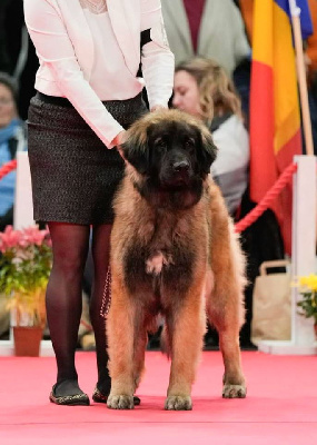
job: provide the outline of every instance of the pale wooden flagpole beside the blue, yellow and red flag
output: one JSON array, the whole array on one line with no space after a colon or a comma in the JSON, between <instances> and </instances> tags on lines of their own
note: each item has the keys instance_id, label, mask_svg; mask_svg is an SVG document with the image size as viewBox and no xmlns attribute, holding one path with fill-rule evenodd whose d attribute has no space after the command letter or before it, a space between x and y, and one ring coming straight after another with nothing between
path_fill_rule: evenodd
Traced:
<instances>
[{"instance_id":1,"label":"pale wooden flagpole beside the blue, yellow and red flag","mask_svg":"<svg viewBox=\"0 0 317 445\"><path fill-rule=\"evenodd\" d=\"M306 154L314 156L311 120L310 120L310 112L309 112L309 106L308 106L306 69L305 69L303 39L301 39L301 30L300 30L300 8L297 7L296 0L288 0L288 2L289 2L289 10L290 10L290 17L291 17L293 31L294 31L294 41L295 41L295 50L296 50L296 66L297 66L299 98L300 98L303 130L304 130Z\"/></svg>"}]
</instances>

